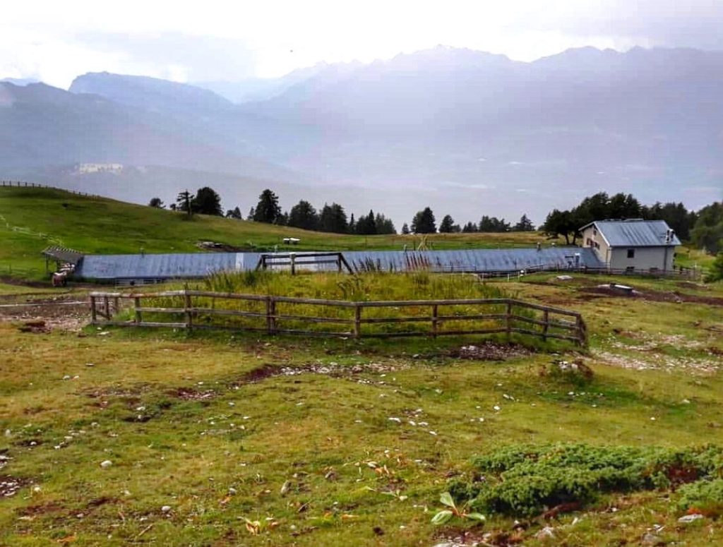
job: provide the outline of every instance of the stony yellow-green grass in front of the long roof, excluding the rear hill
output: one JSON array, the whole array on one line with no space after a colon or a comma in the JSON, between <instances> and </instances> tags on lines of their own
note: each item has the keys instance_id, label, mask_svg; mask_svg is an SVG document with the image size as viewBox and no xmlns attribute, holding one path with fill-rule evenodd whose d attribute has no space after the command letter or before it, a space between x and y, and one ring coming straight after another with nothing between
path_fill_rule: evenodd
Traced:
<instances>
[{"instance_id":1,"label":"stony yellow-green grass in front of the long roof, excluding the rear hill","mask_svg":"<svg viewBox=\"0 0 723 547\"><path fill-rule=\"evenodd\" d=\"M405 276L360 283L392 297L477 290L433 277L426 288ZM595 292L611 280L487 283L581 311L583 352L523 338L478 355L461 350L485 348L476 337L33 333L0 322L0 475L18 482L0 499L0 544L723 545L715 504L678 522L693 494L674 483L601 492L547 518L432 525L440 494L462 504L465 485L480 484L479 457L506 447L723 445L723 285L625 277L641 296ZM338 296L340 281L234 283ZM591 374L554 374L561 361Z\"/></svg>"}]
</instances>

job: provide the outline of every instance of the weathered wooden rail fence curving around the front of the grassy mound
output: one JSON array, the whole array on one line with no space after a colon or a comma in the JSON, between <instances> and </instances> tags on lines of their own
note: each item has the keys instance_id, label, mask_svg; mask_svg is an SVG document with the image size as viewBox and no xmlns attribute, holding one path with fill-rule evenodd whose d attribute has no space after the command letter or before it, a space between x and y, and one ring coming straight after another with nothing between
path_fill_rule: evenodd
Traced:
<instances>
[{"instance_id":1,"label":"weathered wooden rail fence curving around the front of the grassy mound","mask_svg":"<svg viewBox=\"0 0 723 547\"><path fill-rule=\"evenodd\" d=\"M122 301L132 302L131 306ZM150 301L145 305L144 301ZM159 306L173 303L174 306ZM225 307L217 307L221 303ZM250 303L239 309L239 303ZM234 309L234 305L235 308ZM253 309L255 306L256 309ZM281 308L286 308L283 310ZM301 310L299 310L301 308ZM422 314L388 314L405 310ZM458 314L455 310L471 311ZM303 314L303 311L312 313ZM119 313L130 313L127 321ZM253 294L214 293L202 290L172 290L158 293L90 293L90 314L95 325L122 327L171 327L180 329L231 329L335 337L406 337L447 335L530 335L542 340L555 338L586 345L587 327L581 314L513 298L405 301L339 301ZM150 316L151 320L148 320ZM171 320L161 320L169 317ZM214 323L216 317L243 319L244 325ZM175 320L174 320L175 319ZM347 330L311 330L341 324ZM395 330L399 324L429 325L424 330ZM447 324L461 328L448 329ZM291 328L299 325L299 328ZM371 326L374 326L372 330ZM381 327L381 330L380 330ZM468 328L464 328L468 327ZM385 331L386 329L386 331Z\"/></svg>"}]
</instances>

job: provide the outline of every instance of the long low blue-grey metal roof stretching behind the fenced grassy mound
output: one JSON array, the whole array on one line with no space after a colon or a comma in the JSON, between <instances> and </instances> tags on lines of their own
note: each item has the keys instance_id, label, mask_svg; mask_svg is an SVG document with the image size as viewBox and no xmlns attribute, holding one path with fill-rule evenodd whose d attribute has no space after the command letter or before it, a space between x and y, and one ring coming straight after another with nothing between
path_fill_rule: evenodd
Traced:
<instances>
[{"instance_id":1,"label":"long low blue-grey metal roof stretching behind the fenced grassy mound","mask_svg":"<svg viewBox=\"0 0 723 547\"><path fill-rule=\"evenodd\" d=\"M303 257L304 252L297 253ZM590 267L604 264L592 249L547 247L545 249L469 249L460 251L346 251L354 270L433 272L515 272L550 268ZM187 254L89 254L83 257L76 276L93 280L155 280L204 277L220 270L253 270L258 253ZM308 267L307 267L308 268ZM315 270L335 270L334 264L318 264Z\"/></svg>"}]
</instances>

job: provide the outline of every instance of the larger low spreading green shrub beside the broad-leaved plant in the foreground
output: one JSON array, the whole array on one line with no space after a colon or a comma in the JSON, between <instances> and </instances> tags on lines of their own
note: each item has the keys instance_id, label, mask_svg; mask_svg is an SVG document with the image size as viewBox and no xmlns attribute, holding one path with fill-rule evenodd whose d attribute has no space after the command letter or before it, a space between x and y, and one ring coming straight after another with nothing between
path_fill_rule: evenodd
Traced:
<instances>
[{"instance_id":1,"label":"larger low spreading green shrub beside the broad-leaved plant in the foreground","mask_svg":"<svg viewBox=\"0 0 723 547\"><path fill-rule=\"evenodd\" d=\"M485 514L531 516L560 504L583 507L601 494L671 488L723 469L723 451L606 447L589 444L515 445L475 460L484 477L456 481L450 493Z\"/></svg>"}]
</instances>

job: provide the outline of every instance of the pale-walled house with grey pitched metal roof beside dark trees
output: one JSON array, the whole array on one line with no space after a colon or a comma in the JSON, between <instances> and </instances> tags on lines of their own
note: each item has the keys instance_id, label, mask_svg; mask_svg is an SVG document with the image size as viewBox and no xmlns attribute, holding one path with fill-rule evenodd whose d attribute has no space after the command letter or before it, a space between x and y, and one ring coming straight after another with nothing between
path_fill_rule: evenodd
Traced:
<instances>
[{"instance_id":1,"label":"pale-walled house with grey pitched metal roof beside dark trees","mask_svg":"<svg viewBox=\"0 0 723 547\"><path fill-rule=\"evenodd\" d=\"M580 228L590 247L611 270L671 271L680 240L664 220L595 220Z\"/></svg>"}]
</instances>

